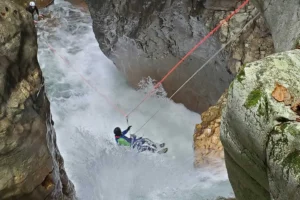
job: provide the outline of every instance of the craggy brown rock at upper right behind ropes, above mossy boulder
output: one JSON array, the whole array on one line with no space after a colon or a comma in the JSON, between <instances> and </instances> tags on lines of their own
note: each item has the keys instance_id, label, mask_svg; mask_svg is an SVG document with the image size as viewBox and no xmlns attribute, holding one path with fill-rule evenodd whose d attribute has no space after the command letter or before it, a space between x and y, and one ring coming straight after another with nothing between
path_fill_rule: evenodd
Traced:
<instances>
[{"instance_id":1,"label":"craggy brown rock at upper right behind ropes, above mossy boulder","mask_svg":"<svg viewBox=\"0 0 300 200\"><path fill-rule=\"evenodd\" d=\"M199 13L205 19L206 27L212 29L242 2L244 1L207 0L204 3L205 9L200 10ZM236 74L244 64L274 53L271 32L263 16L256 17L257 14L259 14L259 10L250 2L234 15L229 23L224 24L217 33L218 39L223 45L233 37L237 38L226 47L226 51L230 55L228 69L233 74ZM245 27L254 17L256 17L255 20ZM244 29L242 34L238 34L242 29Z\"/></svg>"}]
</instances>

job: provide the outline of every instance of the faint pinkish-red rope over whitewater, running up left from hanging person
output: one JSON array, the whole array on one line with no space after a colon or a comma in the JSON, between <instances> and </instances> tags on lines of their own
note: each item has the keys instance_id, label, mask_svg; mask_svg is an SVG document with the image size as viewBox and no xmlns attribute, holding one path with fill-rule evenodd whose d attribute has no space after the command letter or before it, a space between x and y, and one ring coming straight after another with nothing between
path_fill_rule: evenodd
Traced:
<instances>
[{"instance_id":1,"label":"faint pinkish-red rope over whitewater, running up left from hanging person","mask_svg":"<svg viewBox=\"0 0 300 200\"><path fill-rule=\"evenodd\" d=\"M116 104L114 104L106 95L102 94L101 92L99 92L99 90L94 87L92 84L90 84L90 82L84 78L84 76L82 74L80 74L74 67L72 67L70 61L68 59L66 59L65 57L59 55L56 50L50 45L50 44L47 44L49 49L56 55L58 55L63 61L65 61L75 72L77 72L79 74L79 76L85 81L86 84L88 84L91 88L93 88L100 96L102 96L108 104L110 104L112 107L114 107L119 113L121 113L123 116L126 116L126 113L121 109L119 108Z\"/></svg>"}]
</instances>

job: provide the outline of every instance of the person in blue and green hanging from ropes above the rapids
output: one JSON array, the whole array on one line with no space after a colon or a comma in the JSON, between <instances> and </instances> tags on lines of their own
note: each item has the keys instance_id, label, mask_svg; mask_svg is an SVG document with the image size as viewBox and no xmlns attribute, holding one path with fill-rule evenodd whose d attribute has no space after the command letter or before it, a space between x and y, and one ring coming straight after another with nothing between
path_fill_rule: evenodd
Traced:
<instances>
[{"instance_id":1,"label":"person in blue and green hanging from ropes above the rapids","mask_svg":"<svg viewBox=\"0 0 300 200\"><path fill-rule=\"evenodd\" d=\"M143 151L150 151L152 153L166 153L168 151L168 148L161 149L157 151L158 147L163 148L165 146L165 143L162 144L156 144L149 140L148 138L136 138L136 135L131 134L130 138L126 136L128 131L130 130L131 126L129 126L125 131L121 131L119 127L116 127L114 129L114 134L115 134L115 140L118 145L120 146L129 146L132 147L133 149L137 149L139 152Z\"/></svg>"}]
</instances>

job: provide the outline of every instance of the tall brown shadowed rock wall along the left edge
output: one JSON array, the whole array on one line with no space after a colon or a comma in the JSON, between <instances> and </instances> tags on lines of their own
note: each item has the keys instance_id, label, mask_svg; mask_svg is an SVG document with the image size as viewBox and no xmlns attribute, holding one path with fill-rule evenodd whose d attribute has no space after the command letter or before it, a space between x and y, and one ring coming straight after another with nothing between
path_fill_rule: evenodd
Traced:
<instances>
[{"instance_id":1,"label":"tall brown shadowed rock wall along the left edge","mask_svg":"<svg viewBox=\"0 0 300 200\"><path fill-rule=\"evenodd\" d=\"M9 0L1 0L0 9L0 198L73 200L31 15Z\"/></svg>"}]
</instances>

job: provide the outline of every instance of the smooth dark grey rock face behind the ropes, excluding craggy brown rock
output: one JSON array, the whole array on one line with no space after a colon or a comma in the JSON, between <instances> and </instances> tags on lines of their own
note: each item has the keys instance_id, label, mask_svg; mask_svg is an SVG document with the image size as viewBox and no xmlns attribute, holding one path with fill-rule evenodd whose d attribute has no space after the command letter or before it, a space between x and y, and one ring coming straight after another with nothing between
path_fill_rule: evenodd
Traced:
<instances>
[{"instance_id":1,"label":"smooth dark grey rock face behind the ropes, excluding craggy brown rock","mask_svg":"<svg viewBox=\"0 0 300 200\"><path fill-rule=\"evenodd\" d=\"M143 77L160 80L208 32L192 0L86 0L95 36L102 51L136 87ZM163 83L170 96L219 48L213 36L203 43ZM213 59L175 97L189 109L202 112L214 104L232 76L227 55Z\"/></svg>"}]
</instances>

